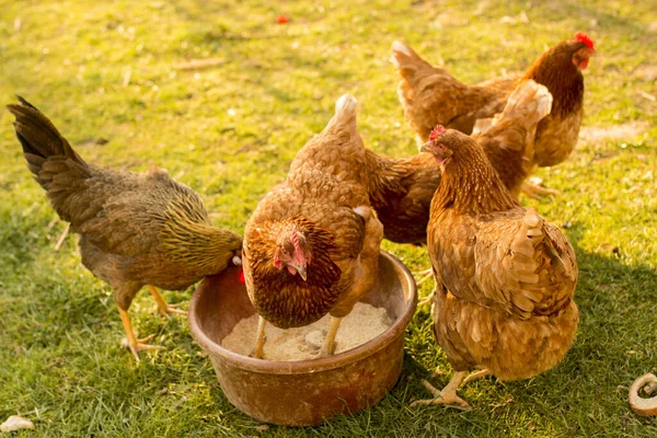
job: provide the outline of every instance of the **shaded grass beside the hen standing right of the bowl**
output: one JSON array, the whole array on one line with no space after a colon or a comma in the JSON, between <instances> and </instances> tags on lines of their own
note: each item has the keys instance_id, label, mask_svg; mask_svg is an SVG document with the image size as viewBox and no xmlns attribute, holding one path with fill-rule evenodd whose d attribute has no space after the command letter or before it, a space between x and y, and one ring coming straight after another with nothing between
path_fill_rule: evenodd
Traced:
<instances>
[{"instance_id":1,"label":"shaded grass beside the hen standing right of the bowl","mask_svg":"<svg viewBox=\"0 0 657 438\"><path fill-rule=\"evenodd\" d=\"M635 378L657 369L657 275L649 266L625 265L618 249L610 249L609 255L584 251L579 246L583 232L578 223L566 230L579 266L575 301L580 323L573 347L563 362L533 379L507 383L486 379L462 387L460 394L474 407L466 414L469 420L477 423L496 414L529 422L538 414L555 433L569 436L638 433L656 425L654 419L635 416L626 397ZM416 315L418 325L426 319L430 315L424 310ZM442 388L453 372L446 360L436 365L445 367L447 374L429 379L433 369L407 356L392 396L405 399L405 404L429 397L419 380L429 379ZM459 414L445 407L423 412L459 420ZM497 427L491 430L499 431Z\"/></svg>"}]
</instances>

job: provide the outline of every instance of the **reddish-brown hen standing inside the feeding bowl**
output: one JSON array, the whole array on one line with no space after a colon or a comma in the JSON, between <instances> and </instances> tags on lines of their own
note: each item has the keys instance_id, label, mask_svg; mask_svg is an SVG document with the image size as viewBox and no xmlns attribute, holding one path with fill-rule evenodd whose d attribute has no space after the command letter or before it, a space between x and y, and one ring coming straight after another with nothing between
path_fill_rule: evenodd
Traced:
<instances>
[{"instance_id":1,"label":"reddish-brown hen standing inside the feeding bowl","mask_svg":"<svg viewBox=\"0 0 657 438\"><path fill-rule=\"evenodd\" d=\"M265 320L288 328L326 313L331 326L320 355L333 354L339 321L373 287L383 229L368 198L356 107L349 95L337 101L328 125L246 223L246 290L261 315L256 357L263 357Z\"/></svg>"}]
</instances>

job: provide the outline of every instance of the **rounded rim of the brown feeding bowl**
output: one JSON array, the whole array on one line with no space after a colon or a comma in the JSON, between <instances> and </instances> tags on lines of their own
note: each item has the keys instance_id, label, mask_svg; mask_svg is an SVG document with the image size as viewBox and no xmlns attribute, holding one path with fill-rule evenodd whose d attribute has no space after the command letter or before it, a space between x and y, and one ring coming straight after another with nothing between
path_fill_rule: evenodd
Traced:
<instances>
[{"instance_id":1,"label":"rounded rim of the brown feeding bowl","mask_svg":"<svg viewBox=\"0 0 657 438\"><path fill-rule=\"evenodd\" d=\"M388 253L387 251L380 250L380 255L384 258L388 258L392 263L393 268L397 273L400 281L406 283L410 292L410 299L405 303L402 314L385 332L356 348L320 359L296 361L256 359L223 348L220 344L217 344L210 339L203 332L199 320L196 316L196 308L198 306L198 301L200 300L203 290L201 285L207 280L207 278L196 287L196 290L192 296L192 300L189 301L188 321L192 335L200 345L200 347L210 355L219 356L222 361L230 366L253 372L269 374L301 374L326 371L354 364L364 357L371 356L374 353L385 348L400 335L404 335L406 326L415 314L415 309L417 307L417 287L415 285L415 278L413 278L413 275L408 268L397 257Z\"/></svg>"}]
</instances>

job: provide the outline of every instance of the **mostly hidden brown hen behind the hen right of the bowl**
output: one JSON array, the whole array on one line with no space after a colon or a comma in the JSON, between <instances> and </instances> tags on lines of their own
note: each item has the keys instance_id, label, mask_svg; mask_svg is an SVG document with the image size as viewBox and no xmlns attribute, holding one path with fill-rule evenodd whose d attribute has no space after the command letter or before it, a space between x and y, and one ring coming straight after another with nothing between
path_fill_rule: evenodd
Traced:
<instances>
[{"instance_id":1,"label":"mostly hidden brown hen behind the hen right of the bowl","mask_svg":"<svg viewBox=\"0 0 657 438\"><path fill-rule=\"evenodd\" d=\"M502 113L472 135L503 183L518 197L533 170L534 134L550 113L552 96L532 80L522 81L508 96ZM429 207L440 183L440 165L430 153L391 159L366 150L370 203L385 239L396 243L426 243Z\"/></svg>"}]
</instances>

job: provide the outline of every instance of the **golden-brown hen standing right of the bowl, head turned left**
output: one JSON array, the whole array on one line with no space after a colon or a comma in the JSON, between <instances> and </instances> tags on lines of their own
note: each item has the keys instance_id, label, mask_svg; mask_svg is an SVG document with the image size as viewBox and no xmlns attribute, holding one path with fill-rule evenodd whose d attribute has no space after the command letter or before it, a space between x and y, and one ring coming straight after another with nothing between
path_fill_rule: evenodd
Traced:
<instances>
[{"instance_id":1,"label":"golden-brown hen standing right of the bowl, head turned left","mask_svg":"<svg viewBox=\"0 0 657 438\"><path fill-rule=\"evenodd\" d=\"M442 168L431 201L428 252L436 279L434 333L457 371L436 399L493 374L528 379L558 364L578 324L577 263L567 239L504 186L476 141L438 127L423 149Z\"/></svg>"}]
</instances>

